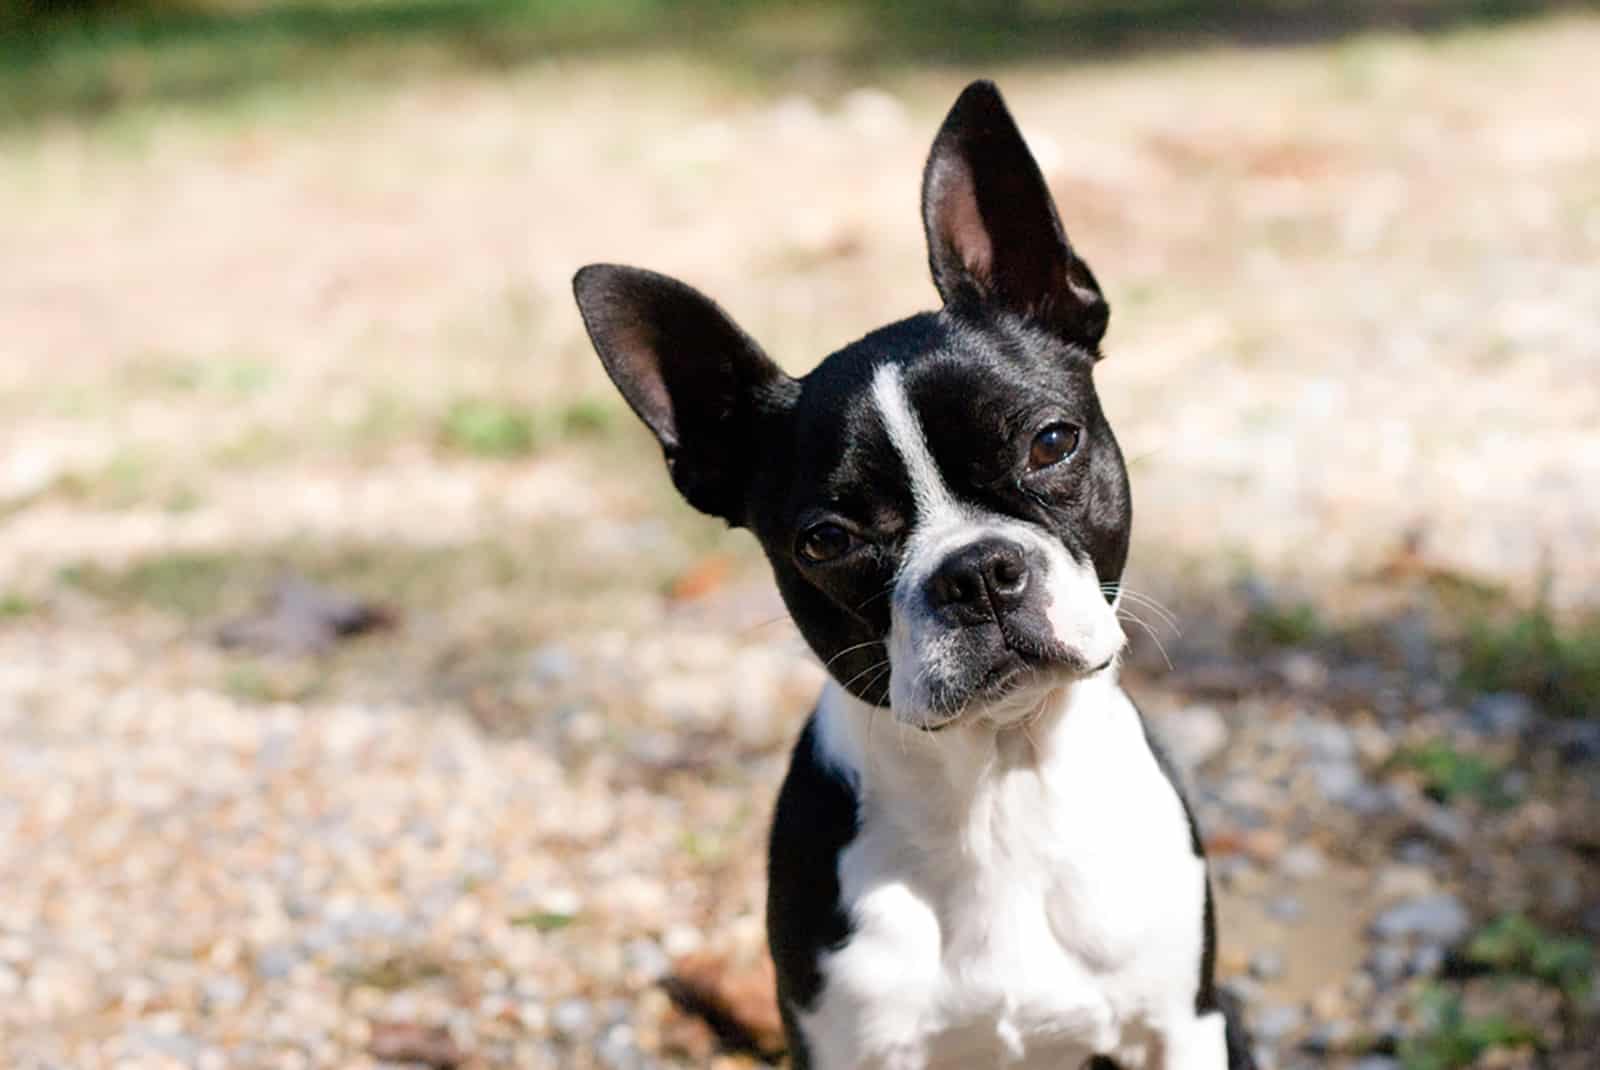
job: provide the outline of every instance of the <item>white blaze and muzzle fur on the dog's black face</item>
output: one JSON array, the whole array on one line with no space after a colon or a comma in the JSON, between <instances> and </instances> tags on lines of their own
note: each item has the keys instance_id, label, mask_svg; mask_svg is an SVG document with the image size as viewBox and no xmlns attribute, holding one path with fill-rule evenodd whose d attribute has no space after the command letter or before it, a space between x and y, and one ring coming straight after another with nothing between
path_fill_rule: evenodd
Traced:
<instances>
[{"instance_id":1,"label":"white blaze and muzzle fur on the dog's black face","mask_svg":"<svg viewBox=\"0 0 1600 1070\"><path fill-rule=\"evenodd\" d=\"M950 553L990 536L1035 547L1043 555L1045 569L1038 582L1048 590L1046 619L1058 641L1077 651L1090 665L1115 657L1126 637L1115 609L1101 593L1094 569L1075 561L1059 539L1035 525L968 509L950 494L896 365L877 369L872 398L910 477L912 499L917 504L917 526L894 577L890 614L890 707L894 717L926 728L950 715L931 709L931 694L941 680L957 670L954 637L933 619L923 592L934 569ZM1006 710L992 710L990 715L1014 717L1027 709L1027 704L1008 704Z\"/></svg>"}]
</instances>

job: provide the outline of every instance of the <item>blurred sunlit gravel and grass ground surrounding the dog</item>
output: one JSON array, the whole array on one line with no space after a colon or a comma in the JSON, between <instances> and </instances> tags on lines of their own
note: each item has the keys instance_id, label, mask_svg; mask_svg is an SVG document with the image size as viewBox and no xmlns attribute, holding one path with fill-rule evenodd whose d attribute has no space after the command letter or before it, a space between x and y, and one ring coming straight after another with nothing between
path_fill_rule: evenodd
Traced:
<instances>
[{"instance_id":1,"label":"blurred sunlit gravel and grass ground surrounding the dog","mask_svg":"<svg viewBox=\"0 0 1600 1070\"><path fill-rule=\"evenodd\" d=\"M0 1062L750 1067L821 680L570 277L803 371L994 77L1267 1067L1600 1051L1600 13L0 6Z\"/></svg>"}]
</instances>

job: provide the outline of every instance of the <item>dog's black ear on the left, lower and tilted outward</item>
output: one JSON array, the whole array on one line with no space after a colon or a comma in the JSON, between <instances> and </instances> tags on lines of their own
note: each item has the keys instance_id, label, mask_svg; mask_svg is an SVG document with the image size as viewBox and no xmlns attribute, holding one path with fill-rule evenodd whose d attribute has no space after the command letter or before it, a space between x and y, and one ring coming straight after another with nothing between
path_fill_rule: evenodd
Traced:
<instances>
[{"instance_id":1,"label":"dog's black ear on the left, lower and tilted outward","mask_svg":"<svg viewBox=\"0 0 1600 1070\"><path fill-rule=\"evenodd\" d=\"M792 405L795 381L717 304L675 278L616 264L573 277L600 363L666 454L678 493L744 523L752 432Z\"/></svg>"}]
</instances>

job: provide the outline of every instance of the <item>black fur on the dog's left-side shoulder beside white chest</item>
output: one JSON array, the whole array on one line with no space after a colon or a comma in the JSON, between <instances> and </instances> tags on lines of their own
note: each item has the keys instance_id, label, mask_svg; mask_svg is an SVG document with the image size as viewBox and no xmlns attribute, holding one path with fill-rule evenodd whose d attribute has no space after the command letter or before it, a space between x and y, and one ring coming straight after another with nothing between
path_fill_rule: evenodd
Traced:
<instances>
[{"instance_id":1,"label":"black fur on the dog's left-side shoulder beside white chest","mask_svg":"<svg viewBox=\"0 0 1600 1070\"><path fill-rule=\"evenodd\" d=\"M818 713L806 721L778 793L768 851L766 929L786 1019L822 987L819 955L850 939L838 886L838 854L859 830L858 787L822 742ZM789 1030L798 1038L798 1030ZM797 1052L797 1064L803 1056Z\"/></svg>"}]
</instances>

